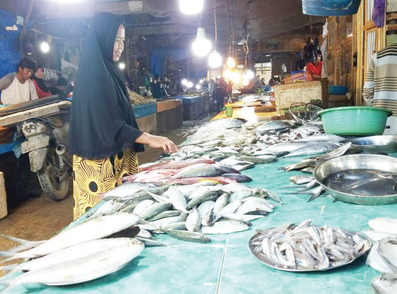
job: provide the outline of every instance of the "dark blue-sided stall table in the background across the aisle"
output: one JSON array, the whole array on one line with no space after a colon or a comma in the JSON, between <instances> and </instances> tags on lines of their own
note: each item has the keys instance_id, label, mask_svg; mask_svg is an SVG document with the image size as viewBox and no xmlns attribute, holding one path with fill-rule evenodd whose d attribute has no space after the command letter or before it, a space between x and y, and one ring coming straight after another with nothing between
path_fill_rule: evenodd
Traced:
<instances>
[{"instance_id":1,"label":"dark blue-sided stall table in the background across the aisle","mask_svg":"<svg viewBox=\"0 0 397 294\"><path fill-rule=\"evenodd\" d=\"M194 120L209 112L210 98L208 95L181 95L173 97L183 103L183 120Z\"/></svg>"}]
</instances>

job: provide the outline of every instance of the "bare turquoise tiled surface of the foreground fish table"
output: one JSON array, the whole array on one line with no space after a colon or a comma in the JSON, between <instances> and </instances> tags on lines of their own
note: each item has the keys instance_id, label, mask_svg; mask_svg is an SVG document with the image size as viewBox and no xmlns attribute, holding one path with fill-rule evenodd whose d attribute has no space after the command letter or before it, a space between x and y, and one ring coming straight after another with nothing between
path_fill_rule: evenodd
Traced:
<instances>
[{"instance_id":1,"label":"bare turquoise tiled surface of the foreground fish table","mask_svg":"<svg viewBox=\"0 0 397 294\"><path fill-rule=\"evenodd\" d=\"M268 216L253 220L250 230L228 235L209 235L211 242L206 244L159 235L158 240L171 246L145 248L131 263L109 276L62 287L35 285L28 290L23 286L15 286L8 289L7 293L373 293L371 280L380 274L365 265L365 256L350 265L330 271L292 273L270 268L250 252L248 242L256 229L288 223L299 224L303 220L312 219L319 226L327 224L361 231L369 228L369 219L378 216L395 217L397 204L364 206L340 201L334 203L332 197L325 195L308 203L310 194L282 194L292 191L281 188L293 185L288 178L302 173L286 172L280 167L301 159L302 157L285 158L274 163L258 164L242 172L254 179L248 183L249 186L278 193L284 202L284 205L278 205ZM80 221L81 219L77 220Z\"/></svg>"}]
</instances>

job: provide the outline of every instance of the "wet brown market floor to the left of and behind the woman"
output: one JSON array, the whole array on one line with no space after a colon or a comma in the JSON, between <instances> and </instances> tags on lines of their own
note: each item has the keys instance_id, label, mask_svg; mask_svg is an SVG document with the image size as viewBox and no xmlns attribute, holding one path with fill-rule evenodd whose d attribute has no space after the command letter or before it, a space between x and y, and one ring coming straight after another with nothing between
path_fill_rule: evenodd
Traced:
<instances>
[{"instance_id":1,"label":"wet brown market floor to the left of and behind the woman","mask_svg":"<svg viewBox=\"0 0 397 294\"><path fill-rule=\"evenodd\" d=\"M215 114L207 115L201 120L184 121L181 128L161 135L167 136L176 144L180 144L185 140L184 134L197 124L210 120ZM138 155L139 163L156 161L161 153L161 150L146 148L144 153ZM0 220L0 235L32 241L51 238L72 221L72 205L71 195L61 202L55 202L45 194L38 198L24 200L16 208L9 211L5 218ZM0 237L0 251L7 251L16 245L15 242ZM0 271L0 277L3 275L4 273Z\"/></svg>"}]
</instances>

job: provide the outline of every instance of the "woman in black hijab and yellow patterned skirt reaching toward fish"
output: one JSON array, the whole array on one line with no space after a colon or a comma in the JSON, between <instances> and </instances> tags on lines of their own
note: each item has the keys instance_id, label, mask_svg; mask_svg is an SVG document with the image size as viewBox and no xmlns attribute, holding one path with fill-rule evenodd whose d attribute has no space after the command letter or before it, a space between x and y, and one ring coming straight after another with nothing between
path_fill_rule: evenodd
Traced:
<instances>
[{"instance_id":1,"label":"woman in black hijab and yellow patterned skirt reaching toward fish","mask_svg":"<svg viewBox=\"0 0 397 294\"><path fill-rule=\"evenodd\" d=\"M116 66L125 28L113 14L93 17L79 64L69 128L73 154L73 217L101 201L123 176L136 173L143 144L177 151L166 137L139 131L123 77Z\"/></svg>"}]
</instances>

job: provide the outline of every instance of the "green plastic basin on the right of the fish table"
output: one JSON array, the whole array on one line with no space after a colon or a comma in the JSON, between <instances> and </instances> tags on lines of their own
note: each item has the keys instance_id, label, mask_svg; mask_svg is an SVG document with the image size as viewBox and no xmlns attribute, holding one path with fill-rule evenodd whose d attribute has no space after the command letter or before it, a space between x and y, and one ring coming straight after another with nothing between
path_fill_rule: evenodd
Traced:
<instances>
[{"instance_id":1,"label":"green plastic basin on the right of the fish table","mask_svg":"<svg viewBox=\"0 0 397 294\"><path fill-rule=\"evenodd\" d=\"M336 135L382 135L392 112L385 108L350 106L318 112L324 131Z\"/></svg>"}]
</instances>

